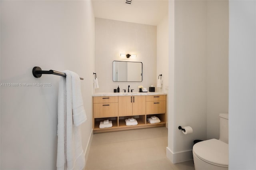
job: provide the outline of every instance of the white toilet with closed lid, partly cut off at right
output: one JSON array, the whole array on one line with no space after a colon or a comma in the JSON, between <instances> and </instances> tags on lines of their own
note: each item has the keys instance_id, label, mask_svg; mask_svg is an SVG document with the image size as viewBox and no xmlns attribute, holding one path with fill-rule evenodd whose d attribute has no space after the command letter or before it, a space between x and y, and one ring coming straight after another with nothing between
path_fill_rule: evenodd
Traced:
<instances>
[{"instance_id":1,"label":"white toilet with closed lid, partly cut off at right","mask_svg":"<svg viewBox=\"0 0 256 170\"><path fill-rule=\"evenodd\" d=\"M228 113L220 113L220 139L193 146L195 170L228 170Z\"/></svg>"}]
</instances>

